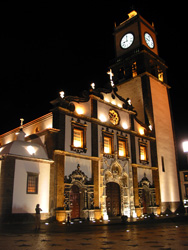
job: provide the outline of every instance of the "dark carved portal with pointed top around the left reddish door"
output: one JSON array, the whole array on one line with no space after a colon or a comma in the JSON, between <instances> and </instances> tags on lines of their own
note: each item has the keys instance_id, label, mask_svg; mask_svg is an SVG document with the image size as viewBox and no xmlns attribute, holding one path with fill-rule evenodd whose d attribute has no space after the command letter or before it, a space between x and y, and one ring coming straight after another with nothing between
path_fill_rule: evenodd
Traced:
<instances>
[{"instance_id":1,"label":"dark carved portal with pointed top around the left reddish door","mask_svg":"<svg viewBox=\"0 0 188 250\"><path fill-rule=\"evenodd\" d=\"M92 180L80 170L80 165L65 177L65 209L71 218L94 219L94 186Z\"/></svg>"}]
</instances>

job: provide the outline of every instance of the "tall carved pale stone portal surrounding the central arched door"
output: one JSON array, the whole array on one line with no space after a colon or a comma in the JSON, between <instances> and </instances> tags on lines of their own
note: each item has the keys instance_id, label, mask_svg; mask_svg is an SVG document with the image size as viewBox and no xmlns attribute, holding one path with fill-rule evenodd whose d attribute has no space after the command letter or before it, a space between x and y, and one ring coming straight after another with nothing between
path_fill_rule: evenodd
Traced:
<instances>
[{"instance_id":1,"label":"tall carved pale stone portal surrounding the central arched door","mask_svg":"<svg viewBox=\"0 0 188 250\"><path fill-rule=\"evenodd\" d=\"M132 166L129 159L103 157L101 176L103 179L101 209L103 219L126 215L135 217Z\"/></svg>"}]
</instances>

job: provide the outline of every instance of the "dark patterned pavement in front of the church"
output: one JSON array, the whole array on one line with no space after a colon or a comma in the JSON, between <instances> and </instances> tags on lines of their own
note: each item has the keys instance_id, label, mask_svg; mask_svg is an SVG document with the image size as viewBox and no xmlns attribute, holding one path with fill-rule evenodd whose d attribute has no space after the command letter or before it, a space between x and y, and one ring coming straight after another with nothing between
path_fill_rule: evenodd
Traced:
<instances>
[{"instance_id":1,"label":"dark patterned pavement in front of the church","mask_svg":"<svg viewBox=\"0 0 188 250\"><path fill-rule=\"evenodd\" d=\"M17 228L16 228L17 227ZM188 249L188 225L34 225L5 226L0 234L3 250L58 249Z\"/></svg>"}]
</instances>

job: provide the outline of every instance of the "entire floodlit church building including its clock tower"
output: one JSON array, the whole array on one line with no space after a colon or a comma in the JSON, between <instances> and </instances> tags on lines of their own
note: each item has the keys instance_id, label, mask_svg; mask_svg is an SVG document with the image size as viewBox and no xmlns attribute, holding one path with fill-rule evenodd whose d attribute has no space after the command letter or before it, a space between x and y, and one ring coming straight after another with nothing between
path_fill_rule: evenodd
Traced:
<instances>
[{"instance_id":1,"label":"entire floodlit church building including its clock tower","mask_svg":"<svg viewBox=\"0 0 188 250\"><path fill-rule=\"evenodd\" d=\"M43 218L58 221L178 209L169 86L154 27L133 11L114 37L108 89L62 91L50 113L0 136L2 217L34 213L38 203Z\"/></svg>"}]
</instances>

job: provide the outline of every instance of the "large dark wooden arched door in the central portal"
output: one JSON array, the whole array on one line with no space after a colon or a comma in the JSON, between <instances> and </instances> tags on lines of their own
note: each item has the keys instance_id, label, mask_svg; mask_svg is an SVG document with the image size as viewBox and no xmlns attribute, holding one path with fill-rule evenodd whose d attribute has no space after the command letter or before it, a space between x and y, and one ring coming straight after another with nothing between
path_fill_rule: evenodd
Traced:
<instances>
[{"instance_id":1,"label":"large dark wooden arched door in the central portal","mask_svg":"<svg viewBox=\"0 0 188 250\"><path fill-rule=\"evenodd\" d=\"M115 182L106 184L106 208L109 217L121 214L120 186Z\"/></svg>"}]
</instances>

